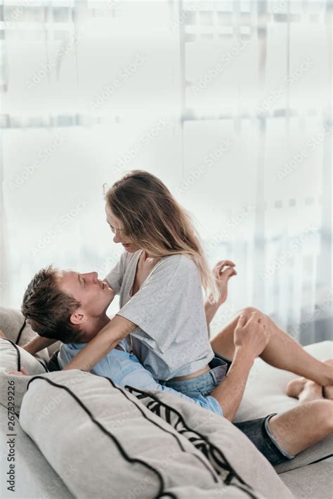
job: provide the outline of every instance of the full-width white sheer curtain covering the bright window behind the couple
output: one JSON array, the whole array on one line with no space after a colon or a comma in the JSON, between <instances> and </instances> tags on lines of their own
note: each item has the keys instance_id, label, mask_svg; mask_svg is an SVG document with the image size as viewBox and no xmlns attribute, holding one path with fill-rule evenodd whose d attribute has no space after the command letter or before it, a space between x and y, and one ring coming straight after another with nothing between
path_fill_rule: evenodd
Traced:
<instances>
[{"instance_id":1,"label":"full-width white sheer curtain covering the bright window behind the couple","mask_svg":"<svg viewBox=\"0 0 333 499\"><path fill-rule=\"evenodd\" d=\"M332 1L0 5L1 304L50 263L105 275L103 183L143 168L211 265L237 264L212 332L254 305L303 343L327 337Z\"/></svg>"}]
</instances>

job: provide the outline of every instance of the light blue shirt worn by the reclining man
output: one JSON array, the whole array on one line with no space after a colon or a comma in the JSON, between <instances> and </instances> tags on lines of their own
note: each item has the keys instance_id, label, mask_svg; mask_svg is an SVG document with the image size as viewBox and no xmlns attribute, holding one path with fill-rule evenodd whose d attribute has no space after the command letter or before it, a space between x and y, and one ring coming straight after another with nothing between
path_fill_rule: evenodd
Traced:
<instances>
[{"instance_id":1,"label":"light blue shirt worn by the reclining man","mask_svg":"<svg viewBox=\"0 0 333 499\"><path fill-rule=\"evenodd\" d=\"M58 354L60 368L65 368L84 346L86 346L86 343L62 344ZM110 378L110 380L118 384L121 388L129 385L141 390L166 391L166 393L185 398L192 403L196 403L197 406L211 410L213 413L223 415L221 406L213 396L198 395L195 398L190 398L187 395L181 394L180 391L164 387L164 385L154 380L151 372L143 367L135 355L129 354L126 351L111 350L101 361L94 365L91 372L98 376Z\"/></svg>"}]
</instances>

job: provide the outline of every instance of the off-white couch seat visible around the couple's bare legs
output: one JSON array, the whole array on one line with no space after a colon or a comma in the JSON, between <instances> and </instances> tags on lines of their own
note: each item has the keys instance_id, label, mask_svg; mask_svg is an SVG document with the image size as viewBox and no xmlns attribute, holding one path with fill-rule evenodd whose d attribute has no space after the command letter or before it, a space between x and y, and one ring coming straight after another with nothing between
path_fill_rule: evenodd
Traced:
<instances>
[{"instance_id":1,"label":"off-white couch seat visible around the couple's bare legs","mask_svg":"<svg viewBox=\"0 0 333 499\"><path fill-rule=\"evenodd\" d=\"M315 343L306 346L305 349L321 361L333 358L333 342ZM291 398L285 394L288 382L295 377L299 376L292 372L273 368L261 361L260 358L256 359L234 422L254 420L257 417L264 417L271 413L282 413L296 407L298 404L296 398ZM276 466L275 469L280 473L305 466L332 454L332 450L333 436L329 436L324 441L316 443L297 455L295 459Z\"/></svg>"}]
</instances>

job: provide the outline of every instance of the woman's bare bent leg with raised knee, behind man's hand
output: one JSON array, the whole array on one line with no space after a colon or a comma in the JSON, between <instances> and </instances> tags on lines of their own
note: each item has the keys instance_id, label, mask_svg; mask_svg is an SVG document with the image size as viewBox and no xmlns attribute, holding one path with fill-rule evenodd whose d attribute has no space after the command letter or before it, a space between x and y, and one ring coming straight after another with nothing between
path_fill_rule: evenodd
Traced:
<instances>
[{"instance_id":1,"label":"woman's bare bent leg with raised knee, behind man's hand","mask_svg":"<svg viewBox=\"0 0 333 499\"><path fill-rule=\"evenodd\" d=\"M248 307L240 313L245 313L249 316L253 312L258 312L258 310ZM233 359L235 354L233 333L240 313L211 341L214 351L226 358L230 358L230 360ZM323 387L333 384L333 368L331 365L318 361L309 355L299 343L278 328L273 323L273 320L264 314L263 316L268 321L268 327L271 332L270 341L261 354L263 361L273 365L275 368L291 371L308 380L313 380Z\"/></svg>"}]
</instances>

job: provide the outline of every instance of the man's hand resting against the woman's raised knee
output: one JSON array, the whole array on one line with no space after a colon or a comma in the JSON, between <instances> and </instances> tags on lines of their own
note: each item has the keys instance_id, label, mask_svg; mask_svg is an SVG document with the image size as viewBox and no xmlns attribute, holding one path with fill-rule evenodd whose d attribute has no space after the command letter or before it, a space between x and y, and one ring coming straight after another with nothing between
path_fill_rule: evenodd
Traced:
<instances>
[{"instance_id":1,"label":"man's hand resting against the woman's raised knee","mask_svg":"<svg viewBox=\"0 0 333 499\"><path fill-rule=\"evenodd\" d=\"M269 340L268 320L263 313L252 312L250 316L240 316L234 333L236 349L242 348L256 358L266 348Z\"/></svg>"}]
</instances>

